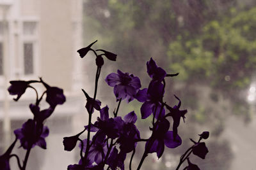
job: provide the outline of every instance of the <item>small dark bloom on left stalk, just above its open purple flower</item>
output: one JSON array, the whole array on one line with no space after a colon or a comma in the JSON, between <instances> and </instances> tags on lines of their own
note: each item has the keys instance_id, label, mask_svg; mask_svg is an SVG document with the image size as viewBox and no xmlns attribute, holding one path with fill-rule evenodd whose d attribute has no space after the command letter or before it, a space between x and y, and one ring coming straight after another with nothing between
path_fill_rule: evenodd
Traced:
<instances>
[{"instance_id":1,"label":"small dark bloom on left stalk, just above its open purple flower","mask_svg":"<svg viewBox=\"0 0 256 170\"><path fill-rule=\"evenodd\" d=\"M29 104L29 108L34 115L35 120L41 123L44 122L46 118L50 117L54 111L51 106L45 110L40 111L40 107L36 106L35 104Z\"/></svg>"}]
</instances>

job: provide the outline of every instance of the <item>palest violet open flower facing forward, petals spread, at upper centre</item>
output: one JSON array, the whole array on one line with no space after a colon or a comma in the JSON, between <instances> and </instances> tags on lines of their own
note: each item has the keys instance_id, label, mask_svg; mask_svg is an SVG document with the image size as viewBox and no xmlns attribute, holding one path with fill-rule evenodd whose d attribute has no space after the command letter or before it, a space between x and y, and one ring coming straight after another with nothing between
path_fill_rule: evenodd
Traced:
<instances>
[{"instance_id":1,"label":"palest violet open flower facing forward, petals spread, at upper centre","mask_svg":"<svg viewBox=\"0 0 256 170\"><path fill-rule=\"evenodd\" d=\"M114 87L116 99L127 98L127 103L134 99L136 92L141 87L140 79L133 74L122 73L119 69L116 73L109 74L105 81L109 86Z\"/></svg>"}]
</instances>

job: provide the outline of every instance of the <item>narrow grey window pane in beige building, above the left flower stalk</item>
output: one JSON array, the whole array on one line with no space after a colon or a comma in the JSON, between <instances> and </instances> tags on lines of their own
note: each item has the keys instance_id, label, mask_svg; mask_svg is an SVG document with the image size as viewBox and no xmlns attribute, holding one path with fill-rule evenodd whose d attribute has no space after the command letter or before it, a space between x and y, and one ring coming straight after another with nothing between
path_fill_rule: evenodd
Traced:
<instances>
[{"instance_id":1,"label":"narrow grey window pane in beige building, above the left flower stalk","mask_svg":"<svg viewBox=\"0 0 256 170\"><path fill-rule=\"evenodd\" d=\"M33 43L24 43L24 74L33 74Z\"/></svg>"}]
</instances>

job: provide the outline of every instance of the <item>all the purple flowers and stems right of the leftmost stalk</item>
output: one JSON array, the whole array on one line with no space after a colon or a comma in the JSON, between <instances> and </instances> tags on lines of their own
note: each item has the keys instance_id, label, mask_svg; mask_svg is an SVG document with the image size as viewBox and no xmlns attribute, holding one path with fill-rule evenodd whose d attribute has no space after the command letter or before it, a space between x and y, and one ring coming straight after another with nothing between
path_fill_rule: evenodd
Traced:
<instances>
[{"instance_id":1,"label":"all the purple flowers and stems right of the leftmost stalk","mask_svg":"<svg viewBox=\"0 0 256 170\"><path fill-rule=\"evenodd\" d=\"M180 118L185 120L185 115L188 111L180 110L181 101L179 97L175 95L178 104L173 107L163 99L164 89L166 87L165 79L177 76L179 73L166 73L166 71L157 66L156 62L151 58L147 62L147 73L152 80L148 84L148 88L144 89L141 89L140 78L133 74L123 73L119 69L117 73L108 74L105 81L110 87L113 87L116 102L118 103L116 109L113 111L113 117L111 117L109 115L108 106L100 108L101 102L99 99L96 99L96 96L100 70L104 65L103 56L109 60L115 61L116 54L102 49L93 50L92 46L96 42L97 41L94 41L90 45L77 50L81 58L88 52L93 52L97 71L95 74L95 90L93 97L90 97L88 93L82 89L87 101L85 108L88 111L88 124L85 125L83 131L78 134L63 138L64 150L70 152L76 147L77 142L79 142L80 148L80 160L77 164L70 164L67 169L124 169L124 161L127 158L127 154L131 154L131 159L129 160L129 169L131 170L132 159L136 153L136 146L139 142L142 142L145 143L145 149L137 167L137 169L140 169L149 153L156 153L157 157L160 158L164 153L164 146L177 148L182 144L182 139L178 134L178 127ZM143 103L140 108L141 113L138 115L134 111L131 111L124 117L120 117L118 111L124 99L126 99L127 103L130 103L134 99ZM97 117L97 121L92 123L92 116L97 114L94 113L94 110L98 110L100 115ZM150 117L150 115L152 115L152 117ZM149 127L151 136L148 139L140 138L141 132L135 125L138 116L142 119L152 118L152 127ZM171 117L172 121L168 120L168 117ZM170 129L170 127L172 127L172 129ZM80 136L84 132L87 132L87 137L86 139L81 139ZM92 132L94 134L91 137ZM188 166L184 169L199 169L198 166L190 162L189 156L193 153L193 155L205 159L208 149L205 143L201 141L209 137L209 132L202 132L199 136L197 142L191 139L193 146L182 154L176 170L180 168L185 160L187 160Z\"/></svg>"}]
</instances>

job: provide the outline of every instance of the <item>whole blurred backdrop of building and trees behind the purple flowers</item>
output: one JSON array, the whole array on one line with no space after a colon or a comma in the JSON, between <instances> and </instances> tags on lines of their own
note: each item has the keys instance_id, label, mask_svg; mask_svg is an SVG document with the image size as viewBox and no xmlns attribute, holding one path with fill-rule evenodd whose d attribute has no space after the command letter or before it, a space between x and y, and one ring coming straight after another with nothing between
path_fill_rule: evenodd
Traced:
<instances>
[{"instance_id":1,"label":"whole blurred backdrop of building and trees behind the purple flowers","mask_svg":"<svg viewBox=\"0 0 256 170\"><path fill-rule=\"evenodd\" d=\"M67 102L57 106L45 123L50 134L47 150L36 146L29 170L67 169L79 160L79 150L64 152L62 140L83 130L88 122L81 88L93 94L95 60L76 52L95 40L93 48L118 55L105 61L97 99L102 107L117 106L104 78L120 69L139 76L148 86L146 62L152 57L167 73L164 101L188 109L180 122L179 148L165 148L161 159L147 157L144 169L175 169L179 157L203 131L209 148L205 160L191 156L200 169L256 167L256 1L253 0L0 0L0 155L13 141L13 130L33 115L27 90L19 102L8 94L10 80L38 80L63 88ZM90 56L91 55L91 56ZM39 87L40 88L40 87ZM132 110L141 138L148 137L150 120L141 120L141 103L123 102L120 115ZM47 104L42 104L42 108ZM93 114L94 120L98 113ZM138 145L134 169L143 153ZM19 145L17 145L19 146ZM24 150L13 152L24 157ZM130 154L127 157L130 157ZM12 168L17 169L12 159Z\"/></svg>"}]
</instances>

